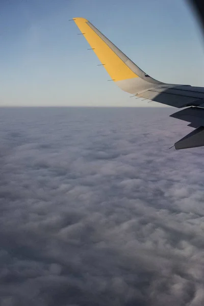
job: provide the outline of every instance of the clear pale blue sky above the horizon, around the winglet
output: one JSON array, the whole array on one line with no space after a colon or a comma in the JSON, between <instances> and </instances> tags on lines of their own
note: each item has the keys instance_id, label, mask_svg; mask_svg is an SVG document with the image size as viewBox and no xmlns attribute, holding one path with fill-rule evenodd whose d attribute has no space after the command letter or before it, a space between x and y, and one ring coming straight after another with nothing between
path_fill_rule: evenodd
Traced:
<instances>
[{"instance_id":1,"label":"clear pale blue sky above the horizon, around the winglet","mask_svg":"<svg viewBox=\"0 0 204 306\"><path fill-rule=\"evenodd\" d=\"M184 0L8 0L0 10L0 106L158 106L107 82L72 17L87 18L152 77L204 84L201 31Z\"/></svg>"}]
</instances>

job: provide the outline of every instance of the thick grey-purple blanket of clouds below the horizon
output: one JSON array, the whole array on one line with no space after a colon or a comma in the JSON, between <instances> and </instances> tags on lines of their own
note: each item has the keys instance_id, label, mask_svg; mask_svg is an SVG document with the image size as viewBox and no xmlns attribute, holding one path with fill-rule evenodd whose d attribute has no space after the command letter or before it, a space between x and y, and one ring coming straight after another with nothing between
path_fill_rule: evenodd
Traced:
<instances>
[{"instance_id":1,"label":"thick grey-purple blanket of clouds below the horizon","mask_svg":"<svg viewBox=\"0 0 204 306\"><path fill-rule=\"evenodd\" d=\"M0 304L204 303L203 148L173 109L2 109Z\"/></svg>"}]
</instances>

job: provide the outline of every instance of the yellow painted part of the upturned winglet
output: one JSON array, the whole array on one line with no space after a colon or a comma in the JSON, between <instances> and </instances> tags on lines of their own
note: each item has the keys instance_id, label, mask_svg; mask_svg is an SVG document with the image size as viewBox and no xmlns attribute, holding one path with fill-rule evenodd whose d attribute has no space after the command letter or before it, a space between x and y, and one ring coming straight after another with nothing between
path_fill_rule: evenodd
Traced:
<instances>
[{"instance_id":1,"label":"yellow painted part of the upturned winglet","mask_svg":"<svg viewBox=\"0 0 204 306\"><path fill-rule=\"evenodd\" d=\"M115 82L137 78L125 62L116 54L117 48L113 43L101 34L87 19L73 18L80 31L90 44L101 64Z\"/></svg>"}]
</instances>

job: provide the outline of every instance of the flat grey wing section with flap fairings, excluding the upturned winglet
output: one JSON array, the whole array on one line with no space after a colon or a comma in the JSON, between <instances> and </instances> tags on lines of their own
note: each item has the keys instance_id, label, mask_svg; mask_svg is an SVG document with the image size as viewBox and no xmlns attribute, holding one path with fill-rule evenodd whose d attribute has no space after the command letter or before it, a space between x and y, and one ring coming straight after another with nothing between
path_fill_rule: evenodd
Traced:
<instances>
[{"instance_id":1,"label":"flat grey wing section with flap fairings, excluding the upturned winglet","mask_svg":"<svg viewBox=\"0 0 204 306\"><path fill-rule=\"evenodd\" d=\"M176 108L185 108L170 117L188 122L196 130L177 141L176 149L204 146L204 88L182 85L166 85L137 93L136 96L166 104Z\"/></svg>"}]
</instances>

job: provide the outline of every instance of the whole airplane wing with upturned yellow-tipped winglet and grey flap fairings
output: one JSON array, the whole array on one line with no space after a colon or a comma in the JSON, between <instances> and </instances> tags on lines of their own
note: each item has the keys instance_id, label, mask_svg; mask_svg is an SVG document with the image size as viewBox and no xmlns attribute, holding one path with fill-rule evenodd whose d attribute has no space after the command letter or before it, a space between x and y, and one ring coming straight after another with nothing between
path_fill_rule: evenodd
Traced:
<instances>
[{"instance_id":1,"label":"whole airplane wing with upturned yellow-tipped winglet and grey flap fairings","mask_svg":"<svg viewBox=\"0 0 204 306\"><path fill-rule=\"evenodd\" d=\"M204 88L166 84L141 70L85 18L73 18L113 81L122 90L177 108L170 117L187 121L196 130L177 141L176 149L204 146Z\"/></svg>"}]
</instances>

